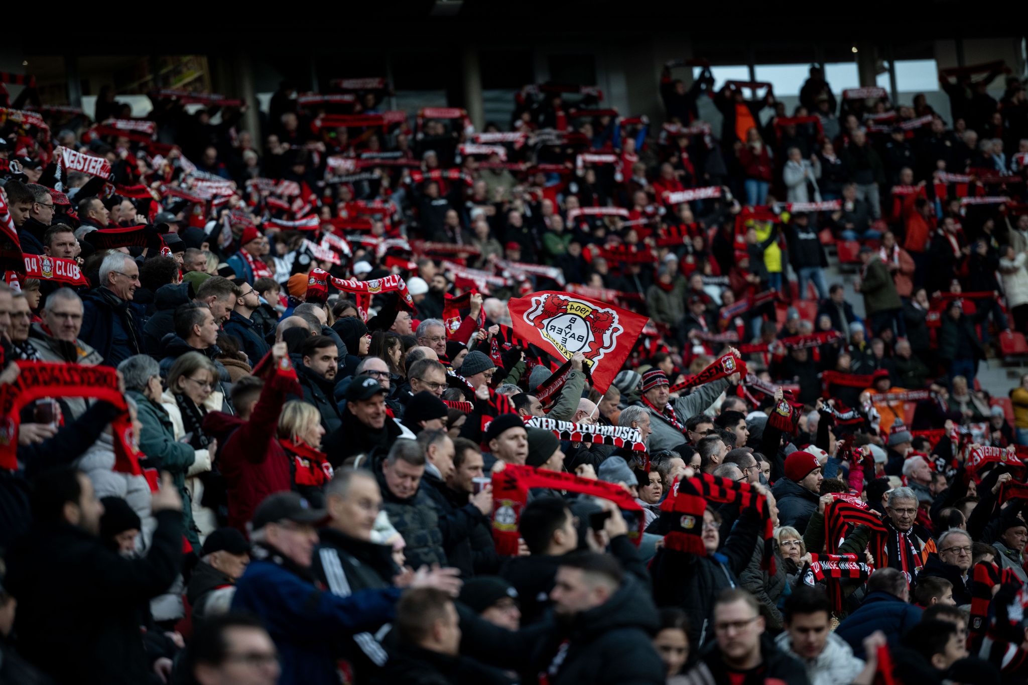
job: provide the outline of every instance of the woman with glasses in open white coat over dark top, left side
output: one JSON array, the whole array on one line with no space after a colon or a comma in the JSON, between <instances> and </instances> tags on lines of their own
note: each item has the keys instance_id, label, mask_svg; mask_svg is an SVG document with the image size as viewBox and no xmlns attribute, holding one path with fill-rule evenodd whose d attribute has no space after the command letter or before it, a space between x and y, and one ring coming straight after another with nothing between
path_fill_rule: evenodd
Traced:
<instances>
[{"instance_id":1,"label":"woman with glasses in open white coat over dark top, left side","mask_svg":"<svg viewBox=\"0 0 1028 685\"><path fill-rule=\"evenodd\" d=\"M218 370L199 352L187 352L168 370L168 389L160 406L168 412L175 428L175 440L189 443L196 451L196 461L186 473L186 488L192 498L193 523L203 541L217 527L214 510L204 506L204 483L199 474L211 470L217 441L207 435L201 426L210 411L221 411L224 396L215 391Z\"/></svg>"}]
</instances>

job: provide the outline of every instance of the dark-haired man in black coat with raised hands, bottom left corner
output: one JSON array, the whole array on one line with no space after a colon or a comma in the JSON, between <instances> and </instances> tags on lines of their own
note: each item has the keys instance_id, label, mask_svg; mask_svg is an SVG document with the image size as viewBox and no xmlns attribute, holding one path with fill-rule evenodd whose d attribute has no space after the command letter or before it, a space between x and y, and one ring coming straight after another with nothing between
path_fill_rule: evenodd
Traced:
<instances>
[{"instance_id":1,"label":"dark-haired man in black coat with raised hands, bottom left corner","mask_svg":"<svg viewBox=\"0 0 1028 685\"><path fill-rule=\"evenodd\" d=\"M62 468L36 480L35 523L6 556L4 586L20 605L22 655L58 682L149 682L140 612L168 591L182 561L182 499L169 473L151 507L150 548L125 559L98 537L104 507L84 473Z\"/></svg>"}]
</instances>

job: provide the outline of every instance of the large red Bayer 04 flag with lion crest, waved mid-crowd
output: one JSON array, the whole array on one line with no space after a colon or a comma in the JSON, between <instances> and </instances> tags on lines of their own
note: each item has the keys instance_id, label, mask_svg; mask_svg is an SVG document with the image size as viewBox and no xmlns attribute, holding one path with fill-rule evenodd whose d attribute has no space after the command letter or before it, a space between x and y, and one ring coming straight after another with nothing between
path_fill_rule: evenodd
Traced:
<instances>
[{"instance_id":1,"label":"large red Bayer 04 flag with lion crest, waved mid-crowd","mask_svg":"<svg viewBox=\"0 0 1028 685\"><path fill-rule=\"evenodd\" d=\"M599 392L607 392L621 370L646 316L568 293L542 291L509 303L514 333L558 359L576 352Z\"/></svg>"}]
</instances>

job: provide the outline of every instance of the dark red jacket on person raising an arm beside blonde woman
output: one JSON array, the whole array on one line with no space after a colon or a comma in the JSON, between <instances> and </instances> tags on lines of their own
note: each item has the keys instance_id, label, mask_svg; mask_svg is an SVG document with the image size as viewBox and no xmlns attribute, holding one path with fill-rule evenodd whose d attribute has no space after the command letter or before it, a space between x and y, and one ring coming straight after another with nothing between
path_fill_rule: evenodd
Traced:
<instances>
[{"instance_id":1,"label":"dark red jacket on person raising an arm beside blonde woman","mask_svg":"<svg viewBox=\"0 0 1028 685\"><path fill-rule=\"evenodd\" d=\"M211 412L204 430L218 439L218 466L228 489L228 525L244 535L257 505L268 495L292 490L289 457L278 441L286 393L264 383L249 421Z\"/></svg>"}]
</instances>

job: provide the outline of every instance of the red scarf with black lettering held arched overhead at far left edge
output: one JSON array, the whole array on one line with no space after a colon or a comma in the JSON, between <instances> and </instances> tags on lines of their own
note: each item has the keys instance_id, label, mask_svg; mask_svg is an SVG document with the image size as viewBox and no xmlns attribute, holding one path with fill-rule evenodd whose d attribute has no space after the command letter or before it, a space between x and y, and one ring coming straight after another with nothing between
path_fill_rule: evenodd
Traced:
<instances>
[{"instance_id":1,"label":"red scarf with black lettering held arched overhead at far left edge","mask_svg":"<svg viewBox=\"0 0 1028 685\"><path fill-rule=\"evenodd\" d=\"M40 397L89 397L114 405L120 414L111 421L114 433L114 470L142 475L132 418L118 376L108 367L85 367L49 361L15 361L21 373L10 384L0 386L0 468L17 468L17 429L22 409Z\"/></svg>"}]
</instances>

